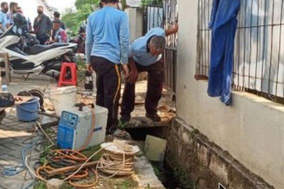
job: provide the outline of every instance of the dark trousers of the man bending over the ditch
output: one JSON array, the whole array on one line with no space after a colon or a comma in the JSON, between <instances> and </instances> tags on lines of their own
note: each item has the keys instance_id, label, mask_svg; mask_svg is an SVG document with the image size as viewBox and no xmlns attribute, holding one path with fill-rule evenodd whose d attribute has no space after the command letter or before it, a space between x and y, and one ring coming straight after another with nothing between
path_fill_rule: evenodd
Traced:
<instances>
[{"instance_id":1,"label":"dark trousers of the man bending over the ditch","mask_svg":"<svg viewBox=\"0 0 284 189\"><path fill-rule=\"evenodd\" d=\"M160 60L157 63L150 66L141 66L135 63L139 73L148 73L147 93L145 99L145 109L148 114L157 113L157 107L159 100L162 96L163 81L164 81L164 67L163 61ZM135 84L126 82L122 105L121 115L130 116L135 106Z\"/></svg>"}]
</instances>

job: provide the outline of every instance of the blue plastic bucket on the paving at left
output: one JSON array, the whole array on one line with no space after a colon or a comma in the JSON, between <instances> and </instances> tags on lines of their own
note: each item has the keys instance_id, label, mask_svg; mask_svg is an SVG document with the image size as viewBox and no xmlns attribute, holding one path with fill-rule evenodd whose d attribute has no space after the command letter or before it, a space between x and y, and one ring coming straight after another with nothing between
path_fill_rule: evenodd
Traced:
<instances>
[{"instance_id":1,"label":"blue plastic bucket on the paving at left","mask_svg":"<svg viewBox=\"0 0 284 189\"><path fill-rule=\"evenodd\" d=\"M17 118L19 121L35 121L38 117L39 97L33 97L29 101L16 106Z\"/></svg>"}]
</instances>

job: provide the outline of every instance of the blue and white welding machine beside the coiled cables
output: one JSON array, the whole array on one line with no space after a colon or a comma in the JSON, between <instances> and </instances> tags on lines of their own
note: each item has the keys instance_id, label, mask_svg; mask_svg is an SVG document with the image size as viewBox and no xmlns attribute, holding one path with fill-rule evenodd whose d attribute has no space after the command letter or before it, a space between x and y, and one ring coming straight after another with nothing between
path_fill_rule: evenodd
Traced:
<instances>
[{"instance_id":1,"label":"blue and white welding machine beside the coiled cables","mask_svg":"<svg viewBox=\"0 0 284 189\"><path fill-rule=\"evenodd\" d=\"M89 106L65 110L61 114L57 133L57 145L61 149L79 150L86 142L89 132L92 139L86 148L105 141L108 109L95 106L96 126L92 125L92 109Z\"/></svg>"}]
</instances>

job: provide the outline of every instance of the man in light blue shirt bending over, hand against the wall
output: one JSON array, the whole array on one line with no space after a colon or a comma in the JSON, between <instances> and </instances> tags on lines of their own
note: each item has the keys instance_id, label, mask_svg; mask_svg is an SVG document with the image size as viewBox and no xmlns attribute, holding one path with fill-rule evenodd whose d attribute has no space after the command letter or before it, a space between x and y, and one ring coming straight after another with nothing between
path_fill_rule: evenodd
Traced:
<instances>
[{"instance_id":1,"label":"man in light blue shirt bending over, hand against the wall","mask_svg":"<svg viewBox=\"0 0 284 189\"><path fill-rule=\"evenodd\" d=\"M165 48L165 37L176 33L178 25L164 30L153 28L145 36L136 39L129 48L130 76L125 84L121 105L121 121L128 122L135 106L135 83L139 73L148 73L147 93L145 100L146 117L160 121L157 114L158 102L162 95L164 67L162 53Z\"/></svg>"}]
</instances>

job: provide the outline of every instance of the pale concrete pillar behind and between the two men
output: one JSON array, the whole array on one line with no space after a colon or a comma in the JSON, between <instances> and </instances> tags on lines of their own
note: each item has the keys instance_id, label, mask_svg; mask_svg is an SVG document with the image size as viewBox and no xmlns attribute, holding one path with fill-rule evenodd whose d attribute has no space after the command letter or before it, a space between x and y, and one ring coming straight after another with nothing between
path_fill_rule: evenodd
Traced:
<instances>
[{"instance_id":1,"label":"pale concrete pillar behind and between the two men","mask_svg":"<svg viewBox=\"0 0 284 189\"><path fill-rule=\"evenodd\" d=\"M125 12L128 14L130 23L129 41L141 37L143 35L143 10L141 8L127 8Z\"/></svg>"}]
</instances>

